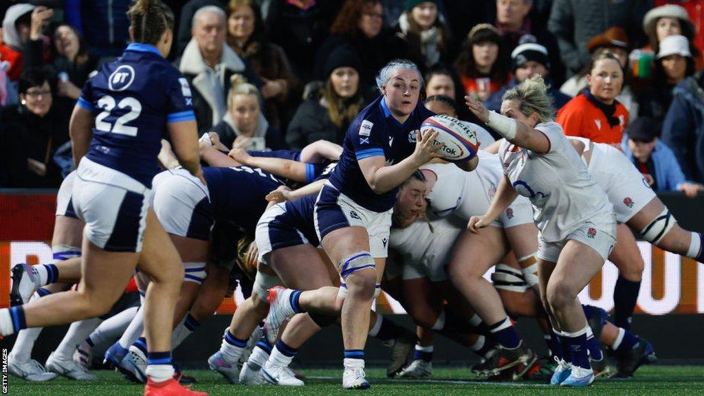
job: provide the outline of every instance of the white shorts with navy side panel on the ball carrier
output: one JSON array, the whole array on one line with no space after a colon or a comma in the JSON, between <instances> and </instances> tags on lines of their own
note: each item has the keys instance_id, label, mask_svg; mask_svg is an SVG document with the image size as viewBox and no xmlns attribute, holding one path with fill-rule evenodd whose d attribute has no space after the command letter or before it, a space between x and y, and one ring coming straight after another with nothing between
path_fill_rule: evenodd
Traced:
<instances>
[{"instance_id":1,"label":"white shorts with navy side panel on the ball carrier","mask_svg":"<svg viewBox=\"0 0 704 396\"><path fill-rule=\"evenodd\" d=\"M375 212L356 204L350 197L326 183L315 202L315 233L322 241L328 233L339 228L358 226L367 230L370 253L374 258L388 255L391 213Z\"/></svg>"}]
</instances>

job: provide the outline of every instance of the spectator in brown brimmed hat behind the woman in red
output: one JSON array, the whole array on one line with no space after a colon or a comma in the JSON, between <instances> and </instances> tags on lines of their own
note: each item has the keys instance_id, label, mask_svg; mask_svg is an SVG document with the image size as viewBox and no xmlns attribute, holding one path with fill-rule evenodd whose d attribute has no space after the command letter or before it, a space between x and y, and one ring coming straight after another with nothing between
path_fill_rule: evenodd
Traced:
<instances>
[{"instance_id":1,"label":"spectator in brown brimmed hat behind the woman in red","mask_svg":"<svg viewBox=\"0 0 704 396\"><path fill-rule=\"evenodd\" d=\"M608 30L603 32L601 35L593 37L586 44L586 48L589 49L589 53L592 54L593 58L598 58L603 54L612 54L615 56L624 70L624 82L622 84L621 93L616 97L616 99L626 106L629 115L638 116L638 101L636 100L636 94L631 85L629 84L629 73L628 68L628 51L629 51L629 41L626 36L626 31L621 27L610 27ZM569 80L565 81L560 87L560 92L566 94L570 97L576 97L580 92L584 91L587 85L586 75L589 73L589 67L584 68L577 75L572 76Z\"/></svg>"}]
</instances>

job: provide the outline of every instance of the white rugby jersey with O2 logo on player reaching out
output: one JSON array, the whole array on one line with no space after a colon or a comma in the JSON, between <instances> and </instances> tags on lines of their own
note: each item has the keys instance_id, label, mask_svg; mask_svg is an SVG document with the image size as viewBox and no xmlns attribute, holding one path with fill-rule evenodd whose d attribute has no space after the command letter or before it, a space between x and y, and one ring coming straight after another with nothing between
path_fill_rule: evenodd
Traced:
<instances>
[{"instance_id":1,"label":"white rugby jersey with O2 logo on player reaching out","mask_svg":"<svg viewBox=\"0 0 704 396\"><path fill-rule=\"evenodd\" d=\"M614 222L608 197L587 172L560 124L540 123L534 129L550 142L546 154L504 141L498 157L513 188L533 204L543 240L564 240L586 221L596 225Z\"/></svg>"}]
</instances>

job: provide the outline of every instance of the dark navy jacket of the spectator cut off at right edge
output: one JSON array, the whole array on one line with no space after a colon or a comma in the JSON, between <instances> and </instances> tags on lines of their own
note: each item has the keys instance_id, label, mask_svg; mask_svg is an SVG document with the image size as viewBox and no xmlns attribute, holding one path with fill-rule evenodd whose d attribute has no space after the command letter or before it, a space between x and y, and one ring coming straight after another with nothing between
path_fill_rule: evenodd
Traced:
<instances>
[{"instance_id":1,"label":"dark navy jacket of the spectator cut off at right edge","mask_svg":"<svg viewBox=\"0 0 704 396\"><path fill-rule=\"evenodd\" d=\"M672 90L661 137L674 151L684 177L704 182L704 72L685 78Z\"/></svg>"}]
</instances>

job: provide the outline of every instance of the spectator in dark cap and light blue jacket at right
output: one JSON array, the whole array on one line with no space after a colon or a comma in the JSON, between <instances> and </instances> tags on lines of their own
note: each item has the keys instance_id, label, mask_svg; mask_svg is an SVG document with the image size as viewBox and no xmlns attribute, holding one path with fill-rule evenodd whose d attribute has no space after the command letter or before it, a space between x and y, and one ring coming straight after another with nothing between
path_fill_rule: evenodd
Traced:
<instances>
[{"instance_id":1,"label":"spectator in dark cap and light blue jacket at right","mask_svg":"<svg viewBox=\"0 0 704 396\"><path fill-rule=\"evenodd\" d=\"M643 173L656 191L681 191L696 197L704 185L686 181L672 150L658 139L658 123L641 117L634 120L623 135L624 154Z\"/></svg>"}]
</instances>

